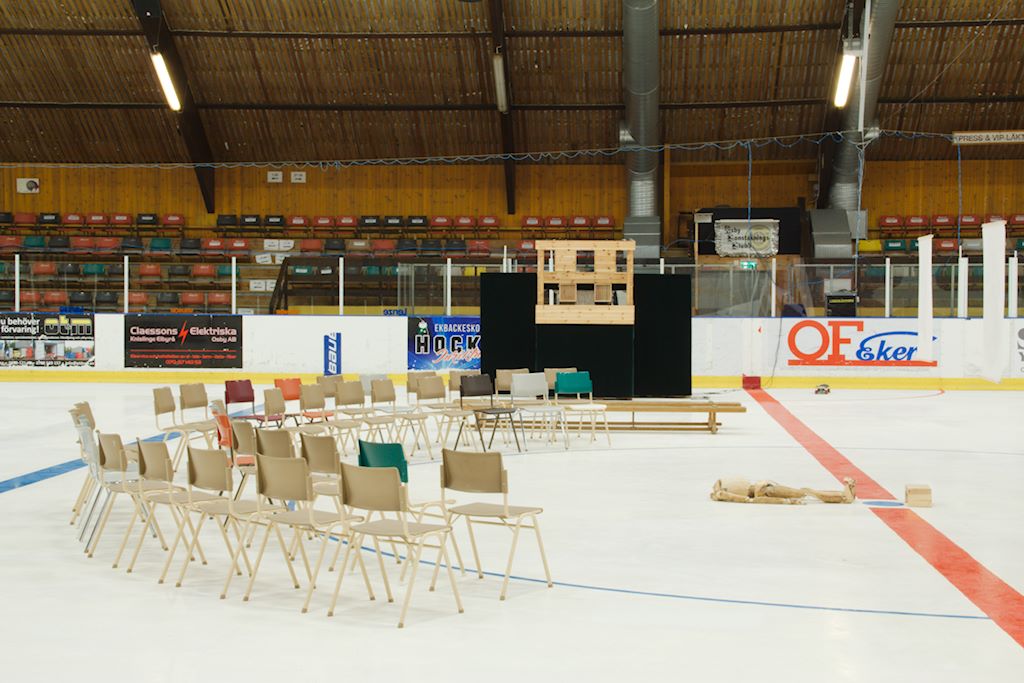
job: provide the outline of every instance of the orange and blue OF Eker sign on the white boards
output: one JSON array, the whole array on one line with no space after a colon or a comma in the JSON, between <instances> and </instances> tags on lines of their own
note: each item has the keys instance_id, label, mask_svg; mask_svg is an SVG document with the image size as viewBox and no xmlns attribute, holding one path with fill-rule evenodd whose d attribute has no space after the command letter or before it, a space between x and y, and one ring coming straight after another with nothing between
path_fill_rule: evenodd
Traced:
<instances>
[{"instance_id":1,"label":"orange and blue OF Eker sign on the white boards","mask_svg":"<svg viewBox=\"0 0 1024 683\"><path fill-rule=\"evenodd\" d=\"M935 368L936 360L922 360L918 333L893 330L863 336L863 321L801 321L793 326L786 344L791 366L842 366L883 368Z\"/></svg>"}]
</instances>

